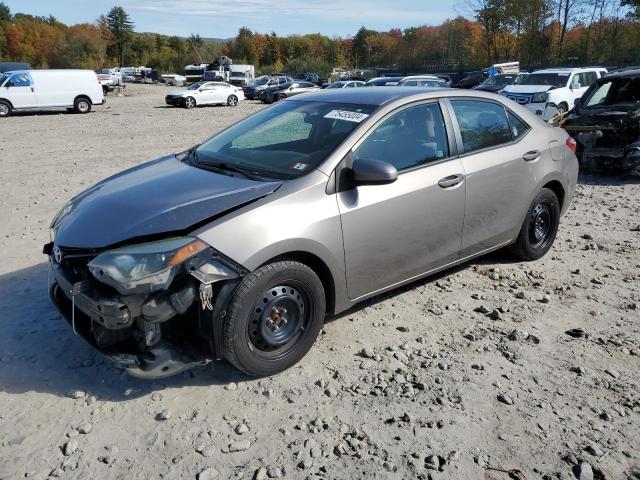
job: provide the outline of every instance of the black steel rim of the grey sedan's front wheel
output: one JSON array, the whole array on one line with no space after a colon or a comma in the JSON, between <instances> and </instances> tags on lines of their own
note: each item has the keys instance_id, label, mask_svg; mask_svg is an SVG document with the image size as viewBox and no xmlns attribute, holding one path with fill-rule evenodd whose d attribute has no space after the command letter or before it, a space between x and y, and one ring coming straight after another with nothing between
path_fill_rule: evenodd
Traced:
<instances>
[{"instance_id":1,"label":"black steel rim of the grey sedan's front wheel","mask_svg":"<svg viewBox=\"0 0 640 480\"><path fill-rule=\"evenodd\" d=\"M273 352L286 348L304 332L308 323L305 295L291 285L265 291L253 306L249 339L254 348Z\"/></svg>"}]
</instances>

